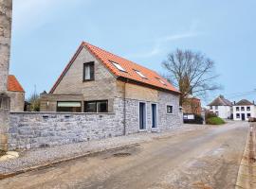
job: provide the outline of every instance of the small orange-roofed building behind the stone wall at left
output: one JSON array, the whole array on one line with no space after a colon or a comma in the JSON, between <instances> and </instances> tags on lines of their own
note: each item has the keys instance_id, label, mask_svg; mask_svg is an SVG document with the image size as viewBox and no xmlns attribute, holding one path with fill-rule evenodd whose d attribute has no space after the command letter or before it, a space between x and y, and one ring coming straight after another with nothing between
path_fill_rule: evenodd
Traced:
<instances>
[{"instance_id":1,"label":"small orange-roofed building behind the stone wall at left","mask_svg":"<svg viewBox=\"0 0 256 189\"><path fill-rule=\"evenodd\" d=\"M8 77L8 94L10 97L10 112L24 112L25 91L16 77Z\"/></svg>"}]
</instances>

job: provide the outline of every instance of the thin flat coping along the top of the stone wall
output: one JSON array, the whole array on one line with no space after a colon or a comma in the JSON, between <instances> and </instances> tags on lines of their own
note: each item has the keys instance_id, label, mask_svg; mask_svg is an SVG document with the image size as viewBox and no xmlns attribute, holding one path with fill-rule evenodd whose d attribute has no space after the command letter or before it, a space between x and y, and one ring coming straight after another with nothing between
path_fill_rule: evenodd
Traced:
<instances>
[{"instance_id":1,"label":"thin flat coping along the top of the stone wall","mask_svg":"<svg viewBox=\"0 0 256 189\"><path fill-rule=\"evenodd\" d=\"M9 112L10 114L62 114L62 115L111 115L111 114L116 114L115 112Z\"/></svg>"}]
</instances>

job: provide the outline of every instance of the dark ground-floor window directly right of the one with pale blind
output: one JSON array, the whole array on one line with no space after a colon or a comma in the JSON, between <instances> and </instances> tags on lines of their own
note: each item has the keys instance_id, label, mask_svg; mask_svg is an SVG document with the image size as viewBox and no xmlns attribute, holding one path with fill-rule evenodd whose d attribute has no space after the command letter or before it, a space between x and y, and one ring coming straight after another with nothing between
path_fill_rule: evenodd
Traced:
<instances>
[{"instance_id":1,"label":"dark ground-floor window directly right of the one with pale blind","mask_svg":"<svg viewBox=\"0 0 256 189\"><path fill-rule=\"evenodd\" d=\"M108 101L86 101L84 102L84 112L108 112Z\"/></svg>"}]
</instances>

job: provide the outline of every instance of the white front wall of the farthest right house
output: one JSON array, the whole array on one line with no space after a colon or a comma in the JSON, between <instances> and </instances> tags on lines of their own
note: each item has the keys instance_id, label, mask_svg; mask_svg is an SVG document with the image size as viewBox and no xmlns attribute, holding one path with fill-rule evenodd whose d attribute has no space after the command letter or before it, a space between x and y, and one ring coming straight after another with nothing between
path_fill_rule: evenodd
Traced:
<instances>
[{"instance_id":1,"label":"white front wall of the farthest right house","mask_svg":"<svg viewBox=\"0 0 256 189\"><path fill-rule=\"evenodd\" d=\"M245 111L242 111L242 107L245 108ZM249 111L247 111L247 107L250 107ZM237 111L236 108L239 108L239 111ZM254 105L251 105L251 106L233 106L233 117L234 117L235 121L241 121L243 113L245 113L246 121L248 120L248 116L247 116L248 113L250 113L250 117L256 117L255 112L256 112L256 107ZM240 115L239 117L237 117L237 113Z\"/></svg>"}]
</instances>

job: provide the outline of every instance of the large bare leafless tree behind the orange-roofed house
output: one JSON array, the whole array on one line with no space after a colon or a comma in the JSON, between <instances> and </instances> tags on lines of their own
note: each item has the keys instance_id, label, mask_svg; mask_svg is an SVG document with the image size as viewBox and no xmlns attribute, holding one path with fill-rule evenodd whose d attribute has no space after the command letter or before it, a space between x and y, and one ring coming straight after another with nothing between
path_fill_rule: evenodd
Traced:
<instances>
[{"instance_id":1,"label":"large bare leafless tree behind the orange-roofed house","mask_svg":"<svg viewBox=\"0 0 256 189\"><path fill-rule=\"evenodd\" d=\"M177 49L162 62L164 76L181 92L180 106L188 95L205 96L220 88L214 84L214 61L199 52Z\"/></svg>"}]
</instances>

